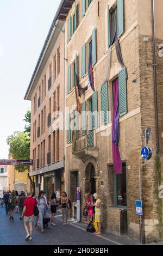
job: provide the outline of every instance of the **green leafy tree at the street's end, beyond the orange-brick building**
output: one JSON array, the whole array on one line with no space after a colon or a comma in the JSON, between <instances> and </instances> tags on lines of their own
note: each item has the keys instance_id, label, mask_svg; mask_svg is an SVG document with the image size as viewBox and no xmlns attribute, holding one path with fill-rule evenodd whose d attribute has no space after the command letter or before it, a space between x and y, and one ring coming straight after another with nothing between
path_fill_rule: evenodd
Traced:
<instances>
[{"instance_id":1,"label":"green leafy tree at the street's end, beyond the orange-brick building","mask_svg":"<svg viewBox=\"0 0 163 256\"><path fill-rule=\"evenodd\" d=\"M7 144L9 145L9 153L13 159L29 159L30 157L30 111L28 110L24 115L24 121L27 125L24 127L24 131L15 131L12 135L7 137ZM28 170L28 178L34 186L34 181L29 175L29 166L15 166L16 170L22 172Z\"/></svg>"}]
</instances>

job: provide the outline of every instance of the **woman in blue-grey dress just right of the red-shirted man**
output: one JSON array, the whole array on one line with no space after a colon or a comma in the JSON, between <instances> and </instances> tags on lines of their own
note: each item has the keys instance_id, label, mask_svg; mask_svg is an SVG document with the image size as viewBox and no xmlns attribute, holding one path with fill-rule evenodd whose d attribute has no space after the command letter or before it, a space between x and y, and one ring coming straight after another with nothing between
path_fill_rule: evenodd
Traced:
<instances>
[{"instance_id":1,"label":"woman in blue-grey dress just right of the red-shirted man","mask_svg":"<svg viewBox=\"0 0 163 256\"><path fill-rule=\"evenodd\" d=\"M44 232L44 230L43 230L43 218L46 217L46 207L47 207L43 191L39 192L38 206L39 206L39 220L37 222L37 230L41 229L41 232L43 233Z\"/></svg>"}]
</instances>

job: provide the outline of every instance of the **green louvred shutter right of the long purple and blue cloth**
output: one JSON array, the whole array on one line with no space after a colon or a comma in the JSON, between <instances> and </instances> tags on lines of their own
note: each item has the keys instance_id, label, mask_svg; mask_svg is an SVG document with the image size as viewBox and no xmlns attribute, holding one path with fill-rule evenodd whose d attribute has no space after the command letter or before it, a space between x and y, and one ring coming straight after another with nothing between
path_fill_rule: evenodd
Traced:
<instances>
[{"instance_id":1,"label":"green louvred shutter right of the long purple and blue cloth","mask_svg":"<svg viewBox=\"0 0 163 256\"><path fill-rule=\"evenodd\" d=\"M120 115L127 113L127 93L126 93L126 68L119 72L119 88L120 88Z\"/></svg>"}]
</instances>

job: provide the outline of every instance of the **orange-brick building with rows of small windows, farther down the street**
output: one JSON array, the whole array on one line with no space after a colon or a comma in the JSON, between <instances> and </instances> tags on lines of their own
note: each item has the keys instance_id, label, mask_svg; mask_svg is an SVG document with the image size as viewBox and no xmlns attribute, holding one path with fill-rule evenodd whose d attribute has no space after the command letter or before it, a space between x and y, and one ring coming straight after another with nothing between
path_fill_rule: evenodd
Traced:
<instances>
[{"instance_id":1,"label":"orange-brick building with rows of small windows, farther down the street","mask_svg":"<svg viewBox=\"0 0 163 256\"><path fill-rule=\"evenodd\" d=\"M48 200L65 187L64 61L64 22L53 21L25 97L32 102L30 175L36 196L43 190Z\"/></svg>"}]
</instances>

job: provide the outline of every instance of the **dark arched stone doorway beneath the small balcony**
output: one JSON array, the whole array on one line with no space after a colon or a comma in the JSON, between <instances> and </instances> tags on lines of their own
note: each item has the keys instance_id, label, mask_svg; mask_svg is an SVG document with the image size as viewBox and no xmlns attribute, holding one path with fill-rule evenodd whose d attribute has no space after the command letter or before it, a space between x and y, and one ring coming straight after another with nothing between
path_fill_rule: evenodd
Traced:
<instances>
[{"instance_id":1,"label":"dark arched stone doorway beneath the small balcony","mask_svg":"<svg viewBox=\"0 0 163 256\"><path fill-rule=\"evenodd\" d=\"M92 194L96 192L96 172L92 163L87 164L85 169L85 193L90 191Z\"/></svg>"}]
</instances>

